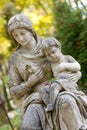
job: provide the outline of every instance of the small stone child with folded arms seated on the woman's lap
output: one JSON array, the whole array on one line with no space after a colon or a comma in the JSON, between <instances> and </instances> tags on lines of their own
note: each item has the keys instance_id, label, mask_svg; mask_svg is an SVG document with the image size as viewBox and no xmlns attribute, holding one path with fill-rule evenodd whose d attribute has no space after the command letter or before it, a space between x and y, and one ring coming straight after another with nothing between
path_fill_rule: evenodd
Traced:
<instances>
[{"instance_id":1,"label":"small stone child with folded arms seated on the woman's lap","mask_svg":"<svg viewBox=\"0 0 87 130\"><path fill-rule=\"evenodd\" d=\"M81 78L81 68L73 57L62 54L61 44L55 38L45 39L43 53L51 63L55 78L55 82L49 87L49 103L46 108L49 112L54 109L55 100L60 91L76 91L77 81Z\"/></svg>"}]
</instances>

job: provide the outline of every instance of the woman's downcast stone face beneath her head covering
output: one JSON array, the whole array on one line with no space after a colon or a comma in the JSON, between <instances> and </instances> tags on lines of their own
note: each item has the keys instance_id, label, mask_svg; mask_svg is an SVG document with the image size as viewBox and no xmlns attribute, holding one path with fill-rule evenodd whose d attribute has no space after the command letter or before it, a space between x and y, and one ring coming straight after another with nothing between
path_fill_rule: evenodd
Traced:
<instances>
[{"instance_id":1,"label":"woman's downcast stone face beneath her head covering","mask_svg":"<svg viewBox=\"0 0 87 130\"><path fill-rule=\"evenodd\" d=\"M12 35L14 39L22 46L27 45L33 37L32 34L24 28L14 29L14 31L12 32Z\"/></svg>"}]
</instances>

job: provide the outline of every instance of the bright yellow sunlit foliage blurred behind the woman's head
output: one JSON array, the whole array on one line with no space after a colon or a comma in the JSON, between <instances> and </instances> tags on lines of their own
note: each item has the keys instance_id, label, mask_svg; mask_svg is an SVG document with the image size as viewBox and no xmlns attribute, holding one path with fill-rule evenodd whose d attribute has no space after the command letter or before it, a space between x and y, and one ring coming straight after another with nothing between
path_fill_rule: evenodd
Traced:
<instances>
[{"instance_id":1,"label":"bright yellow sunlit foliage blurred behind the woman's head","mask_svg":"<svg viewBox=\"0 0 87 130\"><path fill-rule=\"evenodd\" d=\"M0 1L0 55L3 55L3 58L7 58L14 47L7 32L7 22L17 13L27 15L39 35L53 35L52 1L2 0Z\"/></svg>"}]
</instances>

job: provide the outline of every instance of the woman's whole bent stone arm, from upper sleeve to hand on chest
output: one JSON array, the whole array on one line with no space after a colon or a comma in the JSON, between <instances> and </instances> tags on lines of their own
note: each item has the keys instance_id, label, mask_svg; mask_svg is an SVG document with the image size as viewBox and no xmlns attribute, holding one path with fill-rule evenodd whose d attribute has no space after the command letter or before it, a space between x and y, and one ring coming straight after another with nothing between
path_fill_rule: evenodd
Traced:
<instances>
[{"instance_id":1,"label":"woman's whole bent stone arm, from upper sleeve to hand on chest","mask_svg":"<svg viewBox=\"0 0 87 130\"><path fill-rule=\"evenodd\" d=\"M27 81L20 77L14 62L9 60L9 88L13 98L20 98L31 91L32 87L42 79L42 71L38 70Z\"/></svg>"}]
</instances>

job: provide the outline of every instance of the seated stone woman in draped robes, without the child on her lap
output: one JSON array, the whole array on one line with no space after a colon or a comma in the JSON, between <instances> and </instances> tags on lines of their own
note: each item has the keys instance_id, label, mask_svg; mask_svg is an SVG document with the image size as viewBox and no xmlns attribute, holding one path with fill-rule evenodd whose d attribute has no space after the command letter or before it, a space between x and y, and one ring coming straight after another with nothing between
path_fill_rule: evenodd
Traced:
<instances>
[{"instance_id":1,"label":"seated stone woman in draped robes, without the child on her lap","mask_svg":"<svg viewBox=\"0 0 87 130\"><path fill-rule=\"evenodd\" d=\"M42 52L43 39L37 36L31 21L17 14L9 20L8 32L16 45L8 61L9 89L13 98L23 97L21 130L84 128L85 118L72 93L60 93L54 111L49 114L45 111L39 91L44 82L53 78L52 69Z\"/></svg>"}]
</instances>

